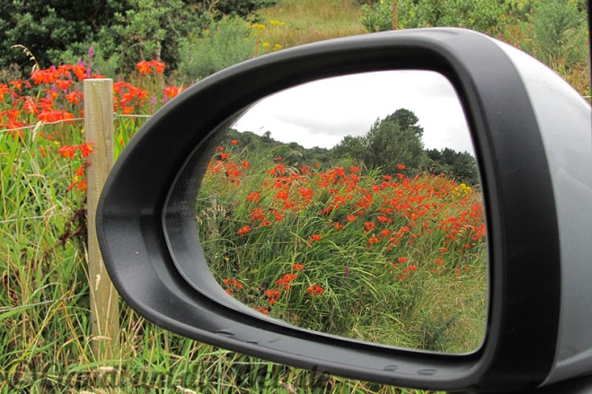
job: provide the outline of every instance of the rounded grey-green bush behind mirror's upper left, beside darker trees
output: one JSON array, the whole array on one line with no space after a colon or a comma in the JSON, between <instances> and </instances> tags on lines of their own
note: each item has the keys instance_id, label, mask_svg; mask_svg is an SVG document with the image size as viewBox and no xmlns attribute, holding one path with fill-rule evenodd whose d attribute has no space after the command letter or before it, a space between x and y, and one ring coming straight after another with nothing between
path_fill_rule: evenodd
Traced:
<instances>
[{"instance_id":1,"label":"rounded grey-green bush behind mirror's upper left, beside darker trees","mask_svg":"<svg viewBox=\"0 0 592 394\"><path fill-rule=\"evenodd\" d=\"M179 74L191 83L255 54L252 30L242 20L224 18L205 31L202 37L181 39Z\"/></svg>"}]
</instances>

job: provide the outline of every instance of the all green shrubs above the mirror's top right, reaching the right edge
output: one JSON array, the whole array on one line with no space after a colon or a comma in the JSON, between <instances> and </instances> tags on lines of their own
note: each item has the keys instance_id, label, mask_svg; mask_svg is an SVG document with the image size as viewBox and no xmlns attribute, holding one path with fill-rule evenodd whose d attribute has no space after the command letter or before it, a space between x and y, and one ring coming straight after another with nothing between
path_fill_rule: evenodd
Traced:
<instances>
[{"instance_id":1,"label":"all green shrubs above the mirror's top right, reaching the right edge","mask_svg":"<svg viewBox=\"0 0 592 394\"><path fill-rule=\"evenodd\" d=\"M455 26L482 31L551 66L590 95L586 0L358 0L367 31ZM396 4L396 8L393 7ZM397 26L393 26L393 10Z\"/></svg>"}]
</instances>

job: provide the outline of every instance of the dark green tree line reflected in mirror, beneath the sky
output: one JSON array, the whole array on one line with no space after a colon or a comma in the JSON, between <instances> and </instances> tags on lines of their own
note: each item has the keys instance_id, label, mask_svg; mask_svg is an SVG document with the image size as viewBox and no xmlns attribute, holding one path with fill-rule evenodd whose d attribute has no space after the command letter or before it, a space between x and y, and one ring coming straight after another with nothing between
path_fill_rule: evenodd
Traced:
<instances>
[{"instance_id":1,"label":"dark green tree line reflected in mirror, beneath the sky","mask_svg":"<svg viewBox=\"0 0 592 394\"><path fill-rule=\"evenodd\" d=\"M344 136L331 149L305 148L296 142L283 143L271 137L269 131L259 136L251 131L239 133L230 129L231 139L268 154L281 157L282 162L299 168L318 162L330 166L356 166L379 170L384 174L404 173L415 176L420 172L439 175L467 185L479 183L479 172L473 154L451 148L426 149L422 142L423 127L409 109L397 109L376 122L361 136ZM404 165L404 169L400 165Z\"/></svg>"}]
</instances>

